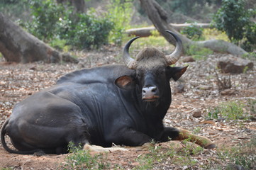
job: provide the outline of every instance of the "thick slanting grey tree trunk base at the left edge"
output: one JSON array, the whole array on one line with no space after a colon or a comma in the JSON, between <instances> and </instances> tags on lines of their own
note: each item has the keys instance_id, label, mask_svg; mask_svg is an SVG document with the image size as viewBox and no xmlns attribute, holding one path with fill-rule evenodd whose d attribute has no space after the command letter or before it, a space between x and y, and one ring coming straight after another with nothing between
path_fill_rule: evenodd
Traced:
<instances>
[{"instance_id":1,"label":"thick slanting grey tree trunk base at the left edge","mask_svg":"<svg viewBox=\"0 0 256 170\"><path fill-rule=\"evenodd\" d=\"M27 33L0 13L0 52L7 62L77 62Z\"/></svg>"}]
</instances>

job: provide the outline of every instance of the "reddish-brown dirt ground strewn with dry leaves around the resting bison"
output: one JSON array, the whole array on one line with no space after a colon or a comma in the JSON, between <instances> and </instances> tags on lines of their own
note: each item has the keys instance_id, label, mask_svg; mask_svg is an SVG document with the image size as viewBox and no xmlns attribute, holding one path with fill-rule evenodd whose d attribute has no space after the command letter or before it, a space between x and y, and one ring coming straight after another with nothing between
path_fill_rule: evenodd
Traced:
<instances>
[{"instance_id":1,"label":"reddish-brown dirt ground strewn with dry leaves around the resting bison","mask_svg":"<svg viewBox=\"0 0 256 170\"><path fill-rule=\"evenodd\" d=\"M102 64L116 64L119 62L118 52L102 50L97 52L84 52L79 55L79 64L15 64L0 63L0 127L4 120L11 114L13 105L36 91L45 89L55 84L63 74L83 67L94 67ZM250 141L256 135L256 121L254 120L208 120L208 109L218 106L219 103L228 101L255 100L256 96L256 70L245 74L221 74L220 79L229 79L231 89L221 92L216 81L216 62L225 54L208 55L206 60L189 63L189 69L181 80L171 81L172 104L165 117L165 124L177 128L184 128L208 137L218 148L233 147ZM106 57L107 56L107 57ZM177 65L182 66L182 59ZM182 87L182 88L181 88ZM184 88L184 89L183 89ZM246 108L245 108L246 110ZM194 113L201 113L199 118ZM255 116L255 115L254 115ZM172 144L171 142L167 143ZM161 145L161 144L158 144ZM164 145L162 148L167 148ZM200 154L194 155L196 164L173 164L171 161L157 163L153 169L225 169L227 162L218 158L217 149L204 149ZM134 169L141 165L138 157L148 151L130 149L128 152L111 152L106 156L106 162L123 169ZM43 156L9 154L0 145L0 169L62 169L67 164L67 155L47 154Z\"/></svg>"}]
</instances>

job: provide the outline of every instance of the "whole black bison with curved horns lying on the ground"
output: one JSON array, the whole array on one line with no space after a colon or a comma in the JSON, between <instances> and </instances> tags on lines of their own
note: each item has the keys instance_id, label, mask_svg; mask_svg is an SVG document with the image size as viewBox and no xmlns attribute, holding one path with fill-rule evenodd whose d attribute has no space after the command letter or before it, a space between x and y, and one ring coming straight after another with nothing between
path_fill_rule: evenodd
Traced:
<instances>
[{"instance_id":1,"label":"whole black bison with curved horns lying on the ground","mask_svg":"<svg viewBox=\"0 0 256 170\"><path fill-rule=\"evenodd\" d=\"M171 55L146 48L133 59L124 47L124 64L82 69L61 77L55 86L17 103L1 129L8 152L33 154L67 152L74 145L140 146L155 140L182 140L188 132L162 123L171 103L169 80L175 81L187 67L169 67L179 60L182 42ZM138 38L138 37L137 37ZM9 135L13 146L5 142ZM199 145L214 147L206 138L191 137ZM201 139L205 139L201 141Z\"/></svg>"}]
</instances>

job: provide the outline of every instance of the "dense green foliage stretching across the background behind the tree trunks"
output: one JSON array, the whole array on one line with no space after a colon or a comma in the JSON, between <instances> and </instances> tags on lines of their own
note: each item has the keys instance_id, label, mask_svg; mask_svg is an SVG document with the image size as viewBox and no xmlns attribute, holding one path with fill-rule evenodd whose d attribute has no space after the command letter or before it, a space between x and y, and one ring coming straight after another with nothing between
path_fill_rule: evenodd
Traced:
<instances>
[{"instance_id":1,"label":"dense green foliage stretching across the background behind the tree trunks","mask_svg":"<svg viewBox=\"0 0 256 170\"><path fill-rule=\"evenodd\" d=\"M57 3L58 2L58 3ZM226 34L248 52L256 44L256 3L254 0L157 0L169 13L169 23L194 23L181 33L192 40L206 40L196 23L212 23L211 28ZM121 45L128 28L150 26L140 1L85 0L85 12L74 10L68 0L3 0L0 10L40 40L60 50L95 49L101 45Z\"/></svg>"}]
</instances>

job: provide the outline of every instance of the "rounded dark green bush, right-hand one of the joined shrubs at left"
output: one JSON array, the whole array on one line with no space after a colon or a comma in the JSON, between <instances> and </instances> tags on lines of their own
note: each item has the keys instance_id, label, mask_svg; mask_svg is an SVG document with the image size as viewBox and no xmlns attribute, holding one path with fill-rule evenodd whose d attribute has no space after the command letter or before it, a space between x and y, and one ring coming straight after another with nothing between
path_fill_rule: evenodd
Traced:
<instances>
[{"instance_id":1,"label":"rounded dark green bush, right-hand one of the joined shrubs at left","mask_svg":"<svg viewBox=\"0 0 256 170\"><path fill-rule=\"evenodd\" d=\"M96 16L96 11L91 9L87 13L77 14L75 20L67 18L65 30L60 38L67 40L67 44L82 48L98 48L108 43L108 35L113 28L113 23L106 17ZM63 24L65 25L65 24Z\"/></svg>"}]
</instances>

